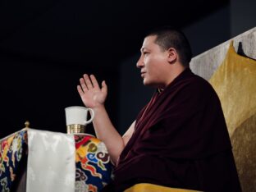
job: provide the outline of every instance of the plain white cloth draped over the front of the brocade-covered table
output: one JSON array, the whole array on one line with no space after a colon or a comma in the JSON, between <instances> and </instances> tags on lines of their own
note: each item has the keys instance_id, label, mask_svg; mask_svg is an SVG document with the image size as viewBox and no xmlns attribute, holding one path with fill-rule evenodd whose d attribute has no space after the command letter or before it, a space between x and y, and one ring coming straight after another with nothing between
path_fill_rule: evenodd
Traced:
<instances>
[{"instance_id":1,"label":"plain white cloth draped over the front of the brocade-covered table","mask_svg":"<svg viewBox=\"0 0 256 192\"><path fill-rule=\"evenodd\" d=\"M28 129L28 145L26 192L74 192L74 135Z\"/></svg>"}]
</instances>

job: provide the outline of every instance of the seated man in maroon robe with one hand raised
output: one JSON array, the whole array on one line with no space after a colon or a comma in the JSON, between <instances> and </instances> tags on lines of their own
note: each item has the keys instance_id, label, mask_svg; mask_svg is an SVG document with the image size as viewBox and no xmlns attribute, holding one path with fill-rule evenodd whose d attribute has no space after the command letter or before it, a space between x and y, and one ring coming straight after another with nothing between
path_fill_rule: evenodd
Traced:
<instances>
[{"instance_id":1,"label":"seated man in maroon robe with one hand raised","mask_svg":"<svg viewBox=\"0 0 256 192\"><path fill-rule=\"evenodd\" d=\"M153 30L137 62L144 85L156 89L124 135L110 121L107 85L83 75L77 86L94 109L94 129L114 168L112 190L138 183L203 191L240 191L221 103L208 81L190 71L190 43L180 30Z\"/></svg>"}]
</instances>

